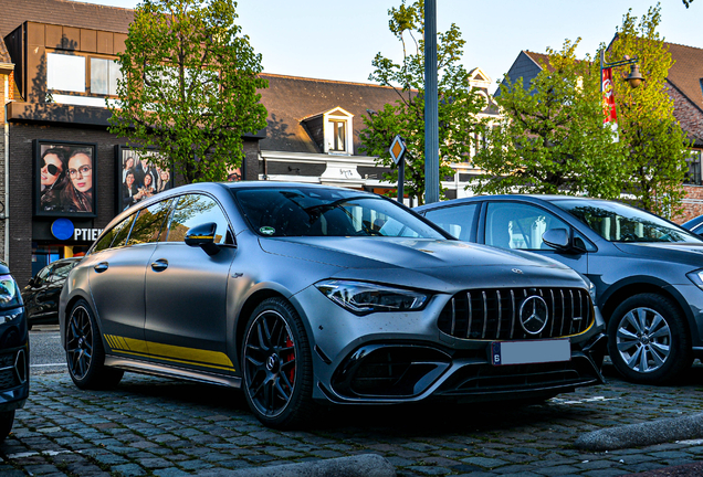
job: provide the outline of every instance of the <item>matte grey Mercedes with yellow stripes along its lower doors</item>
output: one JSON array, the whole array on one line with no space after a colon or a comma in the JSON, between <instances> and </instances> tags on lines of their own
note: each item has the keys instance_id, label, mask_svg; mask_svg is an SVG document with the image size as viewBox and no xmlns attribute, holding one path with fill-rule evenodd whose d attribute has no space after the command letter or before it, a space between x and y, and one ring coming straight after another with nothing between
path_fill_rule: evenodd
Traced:
<instances>
[{"instance_id":1,"label":"matte grey Mercedes with yellow stripes along its lower doors","mask_svg":"<svg viewBox=\"0 0 703 477\"><path fill-rule=\"evenodd\" d=\"M604 321L581 275L322 186L200 183L120 213L71 272L60 324L78 388L124 371L241 388L275 427L318 404L602 382Z\"/></svg>"}]
</instances>

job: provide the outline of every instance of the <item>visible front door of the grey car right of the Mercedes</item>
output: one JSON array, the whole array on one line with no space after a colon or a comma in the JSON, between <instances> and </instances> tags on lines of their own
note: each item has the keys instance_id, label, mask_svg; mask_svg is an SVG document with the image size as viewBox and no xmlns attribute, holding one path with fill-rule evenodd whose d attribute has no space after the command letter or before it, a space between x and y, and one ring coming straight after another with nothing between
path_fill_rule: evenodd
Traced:
<instances>
[{"instance_id":1,"label":"visible front door of the grey car right of the Mercedes","mask_svg":"<svg viewBox=\"0 0 703 477\"><path fill-rule=\"evenodd\" d=\"M557 252L542 236L547 230L565 229L574 233L574 240L588 251L590 243L578 231L553 212L539 205L517 201L487 201L482 233L483 243L508 250L523 250L548 256L563 264L588 274L588 252Z\"/></svg>"}]
</instances>

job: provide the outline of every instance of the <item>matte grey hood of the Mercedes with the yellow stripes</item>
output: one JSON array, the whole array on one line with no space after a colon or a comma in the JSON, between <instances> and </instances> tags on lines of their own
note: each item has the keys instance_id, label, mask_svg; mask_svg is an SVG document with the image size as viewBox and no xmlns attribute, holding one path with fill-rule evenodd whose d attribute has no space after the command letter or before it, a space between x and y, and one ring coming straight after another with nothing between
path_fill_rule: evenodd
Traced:
<instances>
[{"instance_id":1,"label":"matte grey hood of the Mercedes with the yellow stripes","mask_svg":"<svg viewBox=\"0 0 703 477\"><path fill-rule=\"evenodd\" d=\"M345 268L336 278L450 290L469 287L586 287L567 266L538 255L460 241L400 237L260 239L272 254ZM373 275L368 269L373 268Z\"/></svg>"}]
</instances>

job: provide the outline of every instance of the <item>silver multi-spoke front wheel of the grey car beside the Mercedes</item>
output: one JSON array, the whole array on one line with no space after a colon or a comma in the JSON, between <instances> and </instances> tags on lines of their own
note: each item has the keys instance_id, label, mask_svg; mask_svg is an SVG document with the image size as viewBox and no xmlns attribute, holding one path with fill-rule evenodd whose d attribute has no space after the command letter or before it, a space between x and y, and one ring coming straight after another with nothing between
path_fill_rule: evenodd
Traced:
<instances>
[{"instance_id":1,"label":"silver multi-spoke front wheel of the grey car beside the Mercedes","mask_svg":"<svg viewBox=\"0 0 703 477\"><path fill-rule=\"evenodd\" d=\"M679 308L667 297L636 295L608 322L608 352L628 381L662 384L690 367L691 337Z\"/></svg>"}]
</instances>

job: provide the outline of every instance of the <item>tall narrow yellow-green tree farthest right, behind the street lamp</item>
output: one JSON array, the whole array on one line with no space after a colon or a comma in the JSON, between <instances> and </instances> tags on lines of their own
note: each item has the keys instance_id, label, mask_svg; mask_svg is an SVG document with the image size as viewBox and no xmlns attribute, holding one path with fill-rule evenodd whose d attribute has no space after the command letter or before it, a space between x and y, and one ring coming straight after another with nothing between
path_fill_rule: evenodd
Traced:
<instances>
[{"instance_id":1,"label":"tall narrow yellow-green tree farthest right, behind the street lamp","mask_svg":"<svg viewBox=\"0 0 703 477\"><path fill-rule=\"evenodd\" d=\"M673 61L657 32L660 21L659 4L639 21L628 11L608 57L637 57L644 77L640 87L632 89L623 75L613 74L620 140L629 150L626 192L634 197L636 205L673 216L681 211L685 194L682 183L690 141L673 116L673 99L667 91Z\"/></svg>"}]
</instances>

